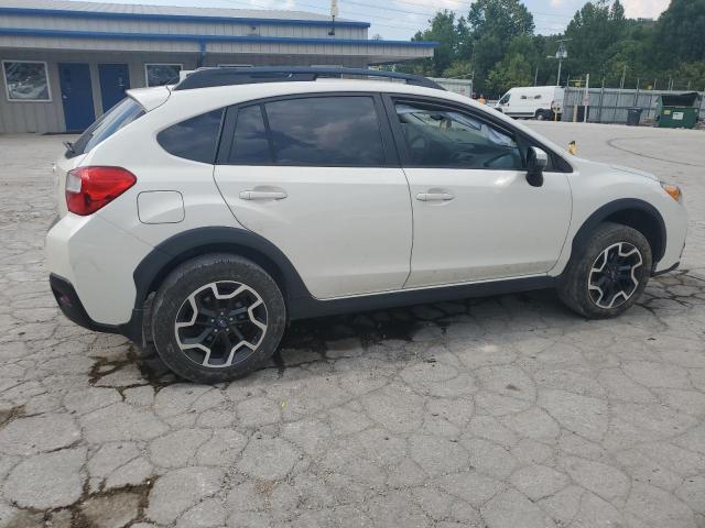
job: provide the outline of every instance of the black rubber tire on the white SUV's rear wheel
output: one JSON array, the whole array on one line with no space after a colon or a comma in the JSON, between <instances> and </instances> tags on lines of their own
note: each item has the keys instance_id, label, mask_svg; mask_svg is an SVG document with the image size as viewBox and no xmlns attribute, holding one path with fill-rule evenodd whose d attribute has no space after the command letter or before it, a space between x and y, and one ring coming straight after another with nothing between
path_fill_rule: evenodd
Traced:
<instances>
[{"instance_id":1,"label":"black rubber tire on the white SUV's rear wheel","mask_svg":"<svg viewBox=\"0 0 705 528\"><path fill-rule=\"evenodd\" d=\"M194 309L197 305L191 299L203 306ZM203 314L208 299L208 312L217 311L213 315L215 319ZM231 308L231 304L236 308ZM234 321L234 317L228 316L236 316L235 322L228 322L228 319ZM184 328L177 328L177 317ZM238 322L240 318L242 321ZM188 321L184 322L186 319ZM198 322L189 324L193 321ZM263 330L262 324L265 326ZM253 262L227 253L198 256L176 267L162 283L152 305L156 352L172 371L196 383L227 382L248 375L276 351L285 326L286 307L274 279ZM184 344L188 351L182 350L182 332L202 328L209 334L199 342L204 346L207 344L209 352L193 348L192 342ZM200 336L183 337L183 340L198 341ZM231 341L232 337L236 340ZM250 343L247 346L242 344L246 340ZM231 364L225 359L227 351L230 351ZM210 355L221 360L220 364ZM199 364L202 360L208 366Z\"/></svg>"}]
</instances>

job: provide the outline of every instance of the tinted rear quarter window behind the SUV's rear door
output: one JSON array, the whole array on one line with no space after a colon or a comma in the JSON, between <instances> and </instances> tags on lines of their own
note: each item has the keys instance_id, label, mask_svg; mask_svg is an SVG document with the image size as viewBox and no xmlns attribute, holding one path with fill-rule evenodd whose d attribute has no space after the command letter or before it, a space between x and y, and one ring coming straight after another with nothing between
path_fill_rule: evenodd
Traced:
<instances>
[{"instance_id":1,"label":"tinted rear quarter window behind the SUV's rear door","mask_svg":"<svg viewBox=\"0 0 705 528\"><path fill-rule=\"evenodd\" d=\"M194 162L214 163L223 109L202 113L156 134L156 141L170 154Z\"/></svg>"}]
</instances>

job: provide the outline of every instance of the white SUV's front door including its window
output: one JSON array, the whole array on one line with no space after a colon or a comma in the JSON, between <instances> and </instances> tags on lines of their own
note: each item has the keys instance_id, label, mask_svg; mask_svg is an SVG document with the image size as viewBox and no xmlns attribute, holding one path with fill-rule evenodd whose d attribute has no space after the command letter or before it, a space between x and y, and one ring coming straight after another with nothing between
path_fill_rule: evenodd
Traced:
<instances>
[{"instance_id":1,"label":"white SUV's front door including its window","mask_svg":"<svg viewBox=\"0 0 705 528\"><path fill-rule=\"evenodd\" d=\"M392 113L393 112L393 113ZM395 100L413 204L408 288L541 275L557 261L571 220L563 173L525 178L510 125L481 112Z\"/></svg>"}]
</instances>

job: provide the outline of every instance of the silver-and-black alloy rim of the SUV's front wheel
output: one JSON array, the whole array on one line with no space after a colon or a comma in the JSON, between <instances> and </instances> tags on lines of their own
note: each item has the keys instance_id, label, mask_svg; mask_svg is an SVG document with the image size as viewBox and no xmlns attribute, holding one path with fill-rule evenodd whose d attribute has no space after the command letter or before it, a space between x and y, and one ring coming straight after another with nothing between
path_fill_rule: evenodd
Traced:
<instances>
[{"instance_id":1,"label":"silver-and-black alloy rim of the SUV's front wheel","mask_svg":"<svg viewBox=\"0 0 705 528\"><path fill-rule=\"evenodd\" d=\"M595 306L617 308L639 288L637 271L643 265L641 252L628 242L618 242L603 251L590 268L587 289Z\"/></svg>"}]
</instances>

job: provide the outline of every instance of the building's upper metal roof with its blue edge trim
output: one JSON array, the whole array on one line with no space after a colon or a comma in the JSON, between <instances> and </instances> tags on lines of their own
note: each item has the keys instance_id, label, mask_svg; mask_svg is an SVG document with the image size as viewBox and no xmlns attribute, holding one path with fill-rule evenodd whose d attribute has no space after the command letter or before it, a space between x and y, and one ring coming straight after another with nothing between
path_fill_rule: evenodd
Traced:
<instances>
[{"instance_id":1,"label":"building's upper metal roof with its blue edge trim","mask_svg":"<svg viewBox=\"0 0 705 528\"><path fill-rule=\"evenodd\" d=\"M82 16L105 19L183 19L188 21L230 21L270 22L289 24L292 22L310 22L312 24L329 24L330 18L305 11L224 9L224 8L184 8L175 6L147 6L126 3L104 3L97 1L74 0L0 0L2 12L17 14L52 14L70 16L77 12ZM369 28L368 22L336 19L336 25Z\"/></svg>"}]
</instances>

